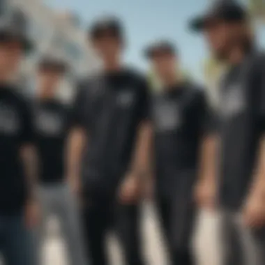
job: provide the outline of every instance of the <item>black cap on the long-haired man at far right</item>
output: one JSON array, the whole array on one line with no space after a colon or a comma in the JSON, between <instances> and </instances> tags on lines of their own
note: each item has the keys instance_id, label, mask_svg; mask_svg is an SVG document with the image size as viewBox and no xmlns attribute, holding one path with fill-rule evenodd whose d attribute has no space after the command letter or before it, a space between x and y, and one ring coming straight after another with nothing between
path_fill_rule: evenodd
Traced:
<instances>
[{"instance_id":1,"label":"black cap on the long-haired man at far right","mask_svg":"<svg viewBox=\"0 0 265 265\"><path fill-rule=\"evenodd\" d=\"M206 23L211 20L224 20L227 22L241 22L248 18L248 12L235 0L219 0L199 17L190 22L190 28L194 31L202 31Z\"/></svg>"}]
</instances>

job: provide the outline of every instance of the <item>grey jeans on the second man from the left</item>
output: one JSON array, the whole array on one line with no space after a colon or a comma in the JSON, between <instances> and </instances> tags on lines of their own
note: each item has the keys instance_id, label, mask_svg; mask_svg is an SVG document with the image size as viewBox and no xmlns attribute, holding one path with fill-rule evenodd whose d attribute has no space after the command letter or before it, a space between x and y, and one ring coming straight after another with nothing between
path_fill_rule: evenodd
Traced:
<instances>
[{"instance_id":1,"label":"grey jeans on the second man from the left","mask_svg":"<svg viewBox=\"0 0 265 265\"><path fill-rule=\"evenodd\" d=\"M79 210L76 199L68 185L66 183L40 185L38 195L42 207L42 221L37 231L40 260L47 219L50 215L55 215L59 220L63 239L66 243L68 264L87 265Z\"/></svg>"}]
</instances>

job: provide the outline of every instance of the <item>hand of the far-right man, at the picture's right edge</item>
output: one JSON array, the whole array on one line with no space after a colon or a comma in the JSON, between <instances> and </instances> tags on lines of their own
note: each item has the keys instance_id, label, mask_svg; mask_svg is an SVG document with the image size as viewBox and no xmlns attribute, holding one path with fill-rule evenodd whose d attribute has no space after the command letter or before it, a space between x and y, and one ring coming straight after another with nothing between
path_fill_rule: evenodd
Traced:
<instances>
[{"instance_id":1,"label":"hand of the far-right man, at the picture's right edge","mask_svg":"<svg viewBox=\"0 0 265 265\"><path fill-rule=\"evenodd\" d=\"M253 228L265 225L264 195L253 192L248 196L243 208L243 221L245 225Z\"/></svg>"}]
</instances>

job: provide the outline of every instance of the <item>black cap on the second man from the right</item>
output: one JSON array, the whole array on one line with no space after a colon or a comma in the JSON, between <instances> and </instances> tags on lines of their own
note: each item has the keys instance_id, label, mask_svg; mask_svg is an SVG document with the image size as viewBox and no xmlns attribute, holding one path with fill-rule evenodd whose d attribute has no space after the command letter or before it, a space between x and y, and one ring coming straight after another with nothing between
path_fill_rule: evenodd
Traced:
<instances>
[{"instance_id":1,"label":"black cap on the second man from the right","mask_svg":"<svg viewBox=\"0 0 265 265\"><path fill-rule=\"evenodd\" d=\"M158 53L176 54L176 48L168 40L160 40L149 45L149 47L144 50L144 56L148 59L151 59Z\"/></svg>"}]
</instances>

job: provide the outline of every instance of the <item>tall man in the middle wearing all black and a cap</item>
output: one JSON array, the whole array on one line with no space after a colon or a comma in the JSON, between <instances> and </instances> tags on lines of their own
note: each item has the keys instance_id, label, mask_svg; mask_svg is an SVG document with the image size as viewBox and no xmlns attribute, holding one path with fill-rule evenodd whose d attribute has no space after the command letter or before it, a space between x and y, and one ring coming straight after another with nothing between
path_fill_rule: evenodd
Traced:
<instances>
[{"instance_id":1,"label":"tall man in the middle wearing all black and a cap","mask_svg":"<svg viewBox=\"0 0 265 265\"><path fill-rule=\"evenodd\" d=\"M77 94L72 177L79 173L82 152L84 220L92 264L109 264L105 239L114 225L126 263L139 265L143 264L139 185L145 174L146 85L138 73L123 66L126 43L119 20L98 20L89 38L103 61L103 72L82 82Z\"/></svg>"}]
</instances>

